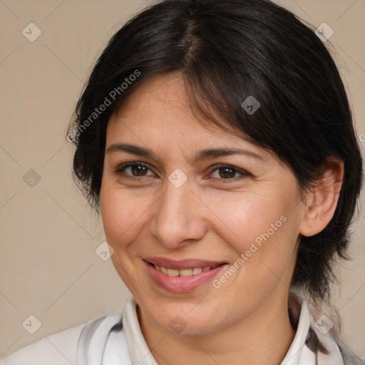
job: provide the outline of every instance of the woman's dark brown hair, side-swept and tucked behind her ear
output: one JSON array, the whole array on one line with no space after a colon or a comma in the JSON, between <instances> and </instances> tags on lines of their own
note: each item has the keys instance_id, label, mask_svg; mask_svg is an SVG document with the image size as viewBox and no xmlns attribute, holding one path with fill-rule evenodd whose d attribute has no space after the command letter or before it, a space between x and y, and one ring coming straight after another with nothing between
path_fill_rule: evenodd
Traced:
<instances>
[{"instance_id":1,"label":"woman's dark brown hair, side-swept and tucked behind her ear","mask_svg":"<svg viewBox=\"0 0 365 365\"><path fill-rule=\"evenodd\" d=\"M98 58L68 130L74 176L97 210L110 115L148 78L171 72L184 76L193 110L272 150L301 191L324 160L344 161L334 217L322 232L301 237L292 278L292 287L314 299L328 297L334 262L348 258L362 159L344 85L323 42L267 0L165 0L128 21ZM252 114L241 106L249 96L260 103Z\"/></svg>"}]
</instances>

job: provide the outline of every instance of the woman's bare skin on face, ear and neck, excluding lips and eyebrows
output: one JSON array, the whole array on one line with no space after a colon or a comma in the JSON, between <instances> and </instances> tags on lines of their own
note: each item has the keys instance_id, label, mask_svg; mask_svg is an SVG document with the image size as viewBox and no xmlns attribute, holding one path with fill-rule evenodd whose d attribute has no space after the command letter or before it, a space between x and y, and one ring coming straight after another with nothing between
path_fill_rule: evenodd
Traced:
<instances>
[{"instance_id":1,"label":"woman's bare skin on face, ear and neck, excluding lips and eyebrows","mask_svg":"<svg viewBox=\"0 0 365 365\"><path fill-rule=\"evenodd\" d=\"M148 148L158 159L108 153L115 143ZM236 154L194 161L198 151L220 147L260 158ZM115 173L130 162L148 169L140 175L131 168ZM236 170L219 170L219 164ZM168 180L177 168L187 177L181 187ZM324 172L327 180L308 192L304 203L293 173L274 155L197 122L178 73L143 83L112 115L100 195L103 226L158 364L282 361L294 338L287 298L299 237L320 232L331 220L343 165L332 160ZM168 292L155 284L142 260L162 256L234 264L282 216L281 227L220 288L208 282L192 292ZM177 315L186 324L178 334L169 326Z\"/></svg>"}]
</instances>

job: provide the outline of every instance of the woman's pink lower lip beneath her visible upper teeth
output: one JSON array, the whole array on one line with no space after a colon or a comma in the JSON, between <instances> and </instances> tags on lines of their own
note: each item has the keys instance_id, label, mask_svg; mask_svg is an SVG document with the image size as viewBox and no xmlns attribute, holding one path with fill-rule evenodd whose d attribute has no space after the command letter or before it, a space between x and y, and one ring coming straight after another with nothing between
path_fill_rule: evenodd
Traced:
<instances>
[{"instance_id":1,"label":"woman's pink lower lip beneath her visible upper teeth","mask_svg":"<svg viewBox=\"0 0 365 365\"><path fill-rule=\"evenodd\" d=\"M169 277L167 274L155 269L153 265L145 260L143 260L143 262L147 266L148 272L153 280L155 280L155 283L163 289L174 293L191 292L192 290L197 289L202 284L212 281L217 273L227 266L227 264L223 264L214 269L202 271L200 274L190 275L188 277Z\"/></svg>"}]
</instances>

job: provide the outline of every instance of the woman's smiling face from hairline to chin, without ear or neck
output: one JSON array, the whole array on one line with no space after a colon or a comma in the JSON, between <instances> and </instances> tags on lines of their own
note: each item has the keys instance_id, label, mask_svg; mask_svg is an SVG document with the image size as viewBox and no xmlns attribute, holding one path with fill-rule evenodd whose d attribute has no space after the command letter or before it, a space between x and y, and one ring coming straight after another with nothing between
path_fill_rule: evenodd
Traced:
<instances>
[{"instance_id":1,"label":"woman's smiling face from hairline to chin, without ear or neck","mask_svg":"<svg viewBox=\"0 0 365 365\"><path fill-rule=\"evenodd\" d=\"M161 329L204 334L287 307L297 181L269 152L200 125L178 74L144 83L110 118L100 203L115 269ZM158 258L173 260L168 274L145 261Z\"/></svg>"}]
</instances>

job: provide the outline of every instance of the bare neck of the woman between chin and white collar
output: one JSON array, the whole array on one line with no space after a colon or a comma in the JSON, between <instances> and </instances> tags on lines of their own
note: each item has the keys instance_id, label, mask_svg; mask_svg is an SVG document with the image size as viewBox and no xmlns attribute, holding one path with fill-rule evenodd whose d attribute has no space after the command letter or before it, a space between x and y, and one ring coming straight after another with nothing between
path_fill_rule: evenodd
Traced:
<instances>
[{"instance_id":1,"label":"bare neck of the woman between chin and white collar","mask_svg":"<svg viewBox=\"0 0 365 365\"><path fill-rule=\"evenodd\" d=\"M170 334L139 306L138 320L158 365L237 364L237 359L240 364L278 365L295 334L284 299L277 305L267 300L254 313L209 334Z\"/></svg>"}]
</instances>

